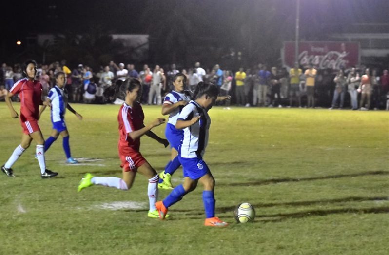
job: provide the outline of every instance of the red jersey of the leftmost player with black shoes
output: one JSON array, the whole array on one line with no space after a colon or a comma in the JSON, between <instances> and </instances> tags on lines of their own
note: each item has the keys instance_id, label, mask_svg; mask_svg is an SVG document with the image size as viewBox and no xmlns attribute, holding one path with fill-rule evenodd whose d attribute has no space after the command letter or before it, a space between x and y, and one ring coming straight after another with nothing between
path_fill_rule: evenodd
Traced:
<instances>
[{"instance_id":1,"label":"red jersey of the leftmost player with black shoes","mask_svg":"<svg viewBox=\"0 0 389 255\"><path fill-rule=\"evenodd\" d=\"M19 94L20 120L34 121L39 118L39 105L42 105L42 84L38 80L20 79L9 91Z\"/></svg>"}]
</instances>

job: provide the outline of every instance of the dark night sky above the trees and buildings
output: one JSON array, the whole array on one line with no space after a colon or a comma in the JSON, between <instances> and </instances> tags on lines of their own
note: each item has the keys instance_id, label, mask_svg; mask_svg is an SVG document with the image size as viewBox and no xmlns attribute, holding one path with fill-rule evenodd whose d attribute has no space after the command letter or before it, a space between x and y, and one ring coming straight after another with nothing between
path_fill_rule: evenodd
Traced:
<instances>
[{"instance_id":1,"label":"dark night sky above the trees and buildings","mask_svg":"<svg viewBox=\"0 0 389 255\"><path fill-rule=\"evenodd\" d=\"M209 27L204 29L204 34L212 34L213 30L218 29L228 31L228 28L223 28L223 24L231 18L237 4L246 3L250 7L254 2L273 3L280 22L295 19L296 0L7 0L1 3L3 11L0 15L0 29L2 33L15 36L64 31L85 33L91 26L98 26L108 33L147 34L150 30L150 24L147 23L149 16L161 12L169 16L176 4L182 9L187 5L185 12L190 13L191 6L196 3L198 16L209 21ZM161 4L166 8L153 8ZM50 7L53 5L56 8ZM355 22L389 23L389 1L301 0L303 36L304 26L308 23L313 26L313 30L341 32ZM289 23L292 29L294 24ZM310 31L311 29L307 30L308 33Z\"/></svg>"}]
</instances>

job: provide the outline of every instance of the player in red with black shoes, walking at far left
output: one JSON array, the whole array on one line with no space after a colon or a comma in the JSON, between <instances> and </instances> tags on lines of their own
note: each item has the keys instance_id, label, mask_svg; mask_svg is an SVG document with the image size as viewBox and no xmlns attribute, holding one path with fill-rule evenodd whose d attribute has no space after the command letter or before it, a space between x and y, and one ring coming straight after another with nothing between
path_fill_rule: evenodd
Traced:
<instances>
[{"instance_id":1,"label":"player in red with black shoes, walking at far left","mask_svg":"<svg viewBox=\"0 0 389 255\"><path fill-rule=\"evenodd\" d=\"M34 60L27 61L23 66L23 75L25 78L16 82L5 97L5 102L11 111L11 117L18 118L19 115L12 106L11 98L15 94L19 94L20 124L23 128L20 145L16 147L8 161L1 166L1 171L8 177L14 177L11 167L30 146L32 140L37 143L36 155L39 161L40 177L49 178L58 175L58 173L46 169L44 139L38 126L38 119L40 115L39 105L44 104L50 106L50 103L42 101L42 84L35 79L36 74L37 63Z\"/></svg>"}]
</instances>

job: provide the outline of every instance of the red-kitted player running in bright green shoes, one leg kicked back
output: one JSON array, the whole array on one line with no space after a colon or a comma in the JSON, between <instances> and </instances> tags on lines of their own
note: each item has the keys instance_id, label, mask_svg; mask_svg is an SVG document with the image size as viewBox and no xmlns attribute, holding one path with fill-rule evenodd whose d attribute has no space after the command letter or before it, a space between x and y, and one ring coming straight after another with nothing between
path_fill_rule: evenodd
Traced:
<instances>
[{"instance_id":1,"label":"red-kitted player running in bright green shoes, one leg kicked back","mask_svg":"<svg viewBox=\"0 0 389 255\"><path fill-rule=\"evenodd\" d=\"M115 187L121 190L129 190L133 185L136 173L146 176L149 179L147 194L149 196L150 209L148 216L158 218L158 211L155 203L158 198L158 174L139 152L140 137L146 135L163 144L165 148L169 145L166 139L158 137L151 129L165 123L164 118L157 118L148 125L143 124L144 115L142 106L139 104L141 96L141 84L135 78L118 81L117 97L125 98L120 107L117 120L119 122L119 157L123 170L123 177L94 177L86 174L78 185L78 192L92 185L103 185Z\"/></svg>"}]
</instances>

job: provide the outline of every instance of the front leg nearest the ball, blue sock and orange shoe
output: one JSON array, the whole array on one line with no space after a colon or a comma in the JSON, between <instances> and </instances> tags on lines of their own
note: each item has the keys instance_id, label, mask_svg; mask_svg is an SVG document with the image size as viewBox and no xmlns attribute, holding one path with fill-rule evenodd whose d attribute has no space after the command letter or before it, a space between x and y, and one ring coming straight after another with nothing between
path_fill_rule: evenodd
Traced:
<instances>
[{"instance_id":1,"label":"front leg nearest the ball, blue sock and orange shoe","mask_svg":"<svg viewBox=\"0 0 389 255\"><path fill-rule=\"evenodd\" d=\"M215 202L216 202L214 198L215 180L211 172L208 172L206 175L201 177L199 179L199 182L204 186L203 203L204 203L204 210L206 216L204 225L210 227L228 226L228 223L221 221L218 217L215 217Z\"/></svg>"}]
</instances>

